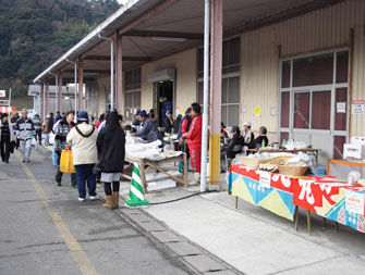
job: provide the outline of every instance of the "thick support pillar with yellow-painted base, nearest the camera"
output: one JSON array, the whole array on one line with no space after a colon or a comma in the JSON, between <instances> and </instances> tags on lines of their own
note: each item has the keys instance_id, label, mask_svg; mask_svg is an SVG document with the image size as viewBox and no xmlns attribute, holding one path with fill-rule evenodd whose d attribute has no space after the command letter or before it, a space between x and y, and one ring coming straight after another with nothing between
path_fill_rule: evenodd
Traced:
<instances>
[{"instance_id":1,"label":"thick support pillar with yellow-painted base, nearest the camera","mask_svg":"<svg viewBox=\"0 0 365 275\"><path fill-rule=\"evenodd\" d=\"M223 0L211 4L210 42L210 138L209 138L209 178L210 185L219 185L220 176L220 123L222 92L222 38Z\"/></svg>"}]
</instances>

